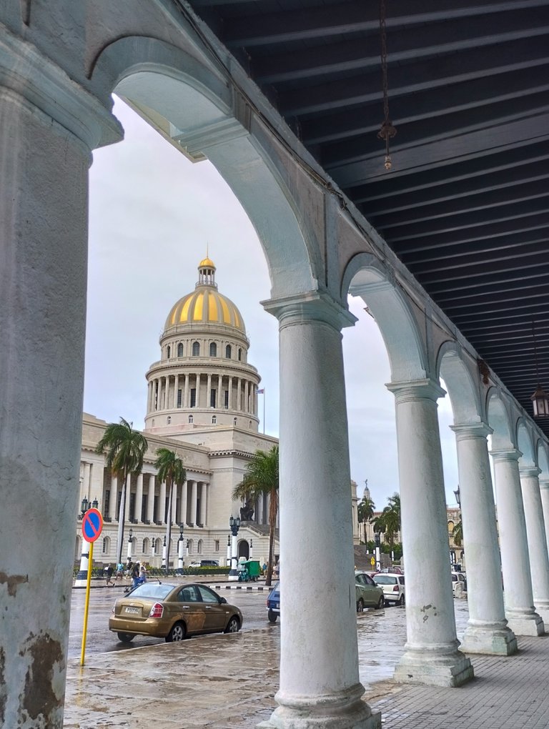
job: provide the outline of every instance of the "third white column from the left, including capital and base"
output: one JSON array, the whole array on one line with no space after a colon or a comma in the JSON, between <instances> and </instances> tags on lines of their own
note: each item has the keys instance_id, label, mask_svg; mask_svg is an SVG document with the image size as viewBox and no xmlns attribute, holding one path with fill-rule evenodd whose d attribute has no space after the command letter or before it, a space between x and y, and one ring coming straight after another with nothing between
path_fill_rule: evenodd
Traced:
<instances>
[{"instance_id":1,"label":"third white column from the left, including capital and base","mask_svg":"<svg viewBox=\"0 0 549 729\"><path fill-rule=\"evenodd\" d=\"M405 652L394 673L403 683L454 687L473 677L459 651L453 613L448 521L432 380L391 383L397 413L402 548L406 562Z\"/></svg>"}]
</instances>

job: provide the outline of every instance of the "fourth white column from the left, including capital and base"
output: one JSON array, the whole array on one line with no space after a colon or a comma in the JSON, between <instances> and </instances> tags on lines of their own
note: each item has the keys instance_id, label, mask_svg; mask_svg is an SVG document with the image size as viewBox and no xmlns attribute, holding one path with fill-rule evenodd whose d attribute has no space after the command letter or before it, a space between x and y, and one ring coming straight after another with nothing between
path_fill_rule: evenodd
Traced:
<instances>
[{"instance_id":1,"label":"fourth white column from the left, including capital and base","mask_svg":"<svg viewBox=\"0 0 549 729\"><path fill-rule=\"evenodd\" d=\"M507 627L502 590L502 564L496 507L483 423L455 425L461 495L463 541L467 550L469 621L462 650L467 653L511 655L517 640Z\"/></svg>"}]
</instances>

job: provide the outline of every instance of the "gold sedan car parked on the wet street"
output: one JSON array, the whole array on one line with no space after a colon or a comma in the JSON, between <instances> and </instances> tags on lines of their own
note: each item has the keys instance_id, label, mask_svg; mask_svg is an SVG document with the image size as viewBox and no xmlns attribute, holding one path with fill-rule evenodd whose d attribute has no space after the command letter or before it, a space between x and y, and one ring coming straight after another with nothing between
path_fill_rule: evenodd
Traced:
<instances>
[{"instance_id":1,"label":"gold sedan car parked on the wet street","mask_svg":"<svg viewBox=\"0 0 549 729\"><path fill-rule=\"evenodd\" d=\"M118 599L109 630L123 643L135 636L183 640L203 633L237 633L242 613L206 585L145 582Z\"/></svg>"}]
</instances>

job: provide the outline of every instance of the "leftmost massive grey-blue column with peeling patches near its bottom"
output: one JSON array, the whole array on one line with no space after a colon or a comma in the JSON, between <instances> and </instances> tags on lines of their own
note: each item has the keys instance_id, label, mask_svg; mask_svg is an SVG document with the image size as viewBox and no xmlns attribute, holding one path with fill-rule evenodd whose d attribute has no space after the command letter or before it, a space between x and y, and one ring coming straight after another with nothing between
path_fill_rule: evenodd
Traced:
<instances>
[{"instance_id":1,"label":"leftmost massive grey-blue column with peeling patches near its bottom","mask_svg":"<svg viewBox=\"0 0 549 729\"><path fill-rule=\"evenodd\" d=\"M6 12L12 28L25 28ZM3 725L21 729L63 724L79 511L87 174L91 150L120 139L98 98L32 40L2 27L0 703ZM71 43L78 54L77 31Z\"/></svg>"}]
</instances>

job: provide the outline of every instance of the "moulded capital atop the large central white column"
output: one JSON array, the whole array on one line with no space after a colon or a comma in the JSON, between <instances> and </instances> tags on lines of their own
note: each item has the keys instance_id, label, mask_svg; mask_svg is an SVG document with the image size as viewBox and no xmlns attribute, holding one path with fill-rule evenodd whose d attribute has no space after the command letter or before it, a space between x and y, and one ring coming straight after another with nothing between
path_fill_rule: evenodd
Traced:
<instances>
[{"instance_id":1,"label":"moulded capital atop the large central white column","mask_svg":"<svg viewBox=\"0 0 549 729\"><path fill-rule=\"evenodd\" d=\"M281 329L305 321L322 321L339 332L343 327L354 327L358 321L354 314L322 291L270 299L262 301L261 305L265 311L276 316Z\"/></svg>"}]
</instances>

